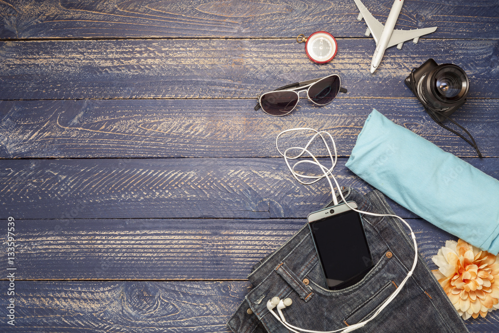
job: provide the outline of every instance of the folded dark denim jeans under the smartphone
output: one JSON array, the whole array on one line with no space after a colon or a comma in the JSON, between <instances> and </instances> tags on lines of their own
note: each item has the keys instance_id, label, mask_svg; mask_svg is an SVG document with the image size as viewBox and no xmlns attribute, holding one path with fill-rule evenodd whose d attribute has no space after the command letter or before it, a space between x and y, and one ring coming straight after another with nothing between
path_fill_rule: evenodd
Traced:
<instances>
[{"instance_id":1,"label":"folded dark denim jeans under the smartphone","mask_svg":"<svg viewBox=\"0 0 499 333\"><path fill-rule=\"evenodd\" d=\"M381 192L362 196L343 189L359 210L394 214ZM314 331L332 331L371 317L407 276L414 261L414 247L407 227L393 217L362 215L375 262L357 284L328 290L317 253L304 226L282 247L253 267L248 279L253 288L231 318L235 333L288 333L267 310L272 297L291 298L283 309L286 322ZM348 253L343 254L348 256ZM274 309L275 311L275 309ZM416 270L403 290L374 320L355 332L468 332L463 320L419 256Z\"/></svg>"}]
</instances>

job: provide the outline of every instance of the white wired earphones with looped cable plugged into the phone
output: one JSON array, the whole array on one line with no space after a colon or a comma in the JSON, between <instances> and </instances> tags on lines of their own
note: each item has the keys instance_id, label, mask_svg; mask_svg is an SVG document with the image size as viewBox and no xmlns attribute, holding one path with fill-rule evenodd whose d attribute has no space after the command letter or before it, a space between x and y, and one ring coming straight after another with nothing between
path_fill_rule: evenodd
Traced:
<instances>
[{"instance_id":1,"label":"white wired earphones with looped cable plugged into the phone","mask_svg":"<svg viewBox=\"0 0 499 333\"><path fill-rule=\"evenodd\" d=\"M312 131L312 132L316 133L308 141L308 143L305 145L305 147L303 147L303 148L302 147L291 147L291 148L287 148L284 151L284 153L282 153L279 150L278 140L279 140L279 137L282 134L287 133L287 132L291 132L291 131L303 131L303 130L305 130L305 131ZM334 157L333 157L333 155L331 153L331 150L329 149L329 145L327 144L326 139L324 138L324 136L322 136L323 134L327 134L329 136L329 138L331 139L331 142L333 144ZM331 163L332 163L332 166L330 168L327 168L324 165L320 164L319 161L317 160L317 158L310 151L308 151L308 147L310 146L310 144L313 142L313 140L317 136L321 137L322 142L324 143L324 145L325 145L325 147L327 149L327 152L329 154L329 157L330 157ZM409 280L409 278L411 277L412 273L416 269L416 264L418 263L418 245L416 244L416 236L414 235L414 232L412 231L411 226L403 218L401 218L400 216L392 215L392 214L376 214L376 213L371 213L371 212L364 212L364 211L361 211L361 210L358 210L358 209L355 209L355 208L351 207L347 203L347 201L345 200L345 198L343 196L343 193L341 193L340 186L339 186L338 182L336 181L336 178L332 174L332 171L333 171L334 166L336 165L336 161L338 159L338 155L337 155L337 152L336 152L336 145L334 143L334 139L331 136L331 134L329 134L328 132L317 131L317 130L314 130L314 129L311 129L311 128L304 128L304 127L288 129L288 130L280 132L277 135L277 138L275 139L275 146L277 147L277 151L279 152L279 154L284 157L284 161L286 162L286 165L287 165L289 171L291 171L291 174L293 175L293 177L299 183L309 185L309 184L315 183L316 181L318 181L318 180L320 180L322 178L326 178L327 181L328 181L328 183L329 183L329 186L331 187L331 194L332 194L332 197L333 197L333 203L334 203L334 205L338 205L338 200L336 199L336 195L334 194L334 187L333 187L333 184L331 183L331 179L330 178L333 179L334 184L336 185L336 188L338 189L338 193L339 193L341 199L343 200L343 202L345 202L346 205L348 207L350 207L352 210L354 210L356 212L359 212L359 213L362 213L362 214L366 214L366 215L372 215L372 216L391 216L391 217L398 218L411 231L411 238L412 238L413 244L414 244L414 262L413 262L411 270L407 273L407 276L404 278L404 280L402 280L402 282L400 283L400 285L398 286L398 288L385 300L385 302L378 308L378 310L370 318L368 318L367 320L365 320L363 322L360 322L360 323L357 323L357 324L354 324L354 325L350 325L350 326L347 326L345 328L342 328L342 329L339 329L339 330L336 330L336 331L311 331L311 330L300 329L300 328L292 326L288 322L286 322L286 320L284 319L284 314L282 313L282 310L284 308L289 307L292 304L292 300L291 299L287 298L287 299L284 299L284 300L280 300L278 297L273 297L271 300L269 300L267 302L267 309L272 314L272 316L274 316L277 319L277 321L279 321L279 323L281 323L289 331L294 332L294 333L301 333L301 332L306 332L306 333L336 333L336 332L343 332L343 333L347 333L347 332L355 331L355 330L357 330L357 329L359 329L361 327L364 327L367 323L369 323L374 318L376 318L376 316L378 316L383 311L383 309L385 309L388 306L388 304L390 304L390 302L393 301L393 299L400 293L400 291L402 290L402 287L404 287L404 285L406 284L407 280ZM296 156L294 156L294 157L289 157L289 156L287 156L289 150L299 150L300 152ZM301 157L305 153L307 153L308 155L310 155L310 157L313 159L313 161L310 161L310 160L301 160L301 161L296 162L291 167L291 165L289 164L288 159L297 159L297 158ZM298 164L301 164L301 163L310 163L310 164L313 164L313 165L317 165L320 168L320 170L322 171L322 175L320 175L320 176L310 176L310 175L299 174L299 173L295 172L295 167ZM306 182L303 179L313 179L313 180L309 181L309 182ZM279 314L278 316L273 311L273 309L276 308L276 307L277 307L277 312ZM300 332L298 332L298 331L300 331Z\"/></svg>"}]
</instances>

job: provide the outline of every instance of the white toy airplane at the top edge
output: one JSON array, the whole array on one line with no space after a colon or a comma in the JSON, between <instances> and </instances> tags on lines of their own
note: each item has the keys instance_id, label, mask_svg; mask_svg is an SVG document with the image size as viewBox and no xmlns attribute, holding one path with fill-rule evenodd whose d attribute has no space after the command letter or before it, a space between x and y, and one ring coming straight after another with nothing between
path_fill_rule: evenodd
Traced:
<instances>
[{"instance_id":1,"label":"white toy airplane at the top edge","mask_svg":"<svg viewBox=\"0 0 499 333\"><path fill-rule=\"evenodd\" d=\"M376 42L376 50L374 51L373 59L371 61L371 73L374 73L378 67L383 54L385 54L386 48L397 45L397 48L400 50L404 41L413 39L413 42L416 44L420 36L437 30L436 26L424 29L394 30L393 28L399 17L404 0L395 0L393 2L392 9L390 9L384 26L371 15L369 10L367 10L360 0L354 1L360 11L357 20L360 21L362 17L364 17L367 24L366 36L369 37L372 33L374 41Z\"/></svg>"}]
</instances>

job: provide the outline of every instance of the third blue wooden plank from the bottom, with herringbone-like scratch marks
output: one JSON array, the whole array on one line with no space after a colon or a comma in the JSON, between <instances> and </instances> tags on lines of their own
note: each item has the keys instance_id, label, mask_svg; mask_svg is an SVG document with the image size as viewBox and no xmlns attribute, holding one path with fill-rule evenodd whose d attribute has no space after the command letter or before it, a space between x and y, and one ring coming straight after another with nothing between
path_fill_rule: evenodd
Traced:
<instances>
[{"instance_id":1,"label":"third blue wooden plank from the bottom, with herringbone-like scratch marks","mask_svg":"<svg viewBox=\"0 0 499 333\"><path fill-rule=\"evenodd\" d=\"M497 158L467 161L499 179ZM345 162L340 186L369 190ZM325 180L299 185L280 158L4 160L0 184L0 216L16 219L304 218L331 196Z\"/></svg>"}]
</instances>

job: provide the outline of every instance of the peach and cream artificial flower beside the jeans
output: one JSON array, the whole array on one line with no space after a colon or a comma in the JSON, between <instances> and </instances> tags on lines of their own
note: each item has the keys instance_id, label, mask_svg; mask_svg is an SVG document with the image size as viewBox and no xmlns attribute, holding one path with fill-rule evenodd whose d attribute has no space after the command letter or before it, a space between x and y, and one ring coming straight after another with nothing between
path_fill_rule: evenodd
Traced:
<instances>
[{"instance_id":1,"label":"peach and cream artificial flower beside the jeans","mask_svg":"<svg viewBox=\"0 0 499 333\"><path fill-rule=\"evenodd\" d=\"M499 308L499 259L459 239L445 242L432 258L433 274L463 319Z\"/></svg>"}]
</instances>

